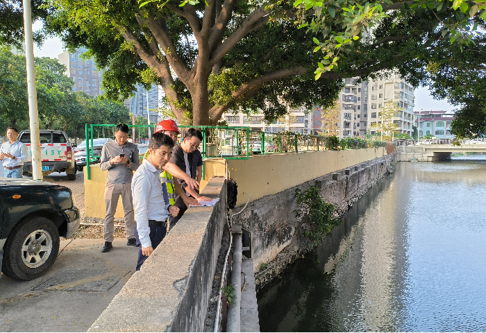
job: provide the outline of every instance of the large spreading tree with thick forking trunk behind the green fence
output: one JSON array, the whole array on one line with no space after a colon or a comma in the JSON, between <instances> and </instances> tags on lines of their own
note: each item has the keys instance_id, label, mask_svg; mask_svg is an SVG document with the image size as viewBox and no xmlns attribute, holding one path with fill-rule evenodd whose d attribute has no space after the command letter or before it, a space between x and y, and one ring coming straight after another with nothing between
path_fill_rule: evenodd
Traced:
<instances>
[{"instance_id":1,"label":"large spreading tree with thick forking trunk behind the green fence","mask_svg":"<svg viewBox=\"0 0 486 333\"><path fill-rule=\"evenodd\" d=\"M340 79L396 71L463 110L475 100L473 118L485 122L485 89L474 84L485 76L483 0L34 2L49 33L106 68L108 97L160 84L167 108L194 125L227 110L272 121L287 105L326 108Z\"/></svg>"}]
</instances>

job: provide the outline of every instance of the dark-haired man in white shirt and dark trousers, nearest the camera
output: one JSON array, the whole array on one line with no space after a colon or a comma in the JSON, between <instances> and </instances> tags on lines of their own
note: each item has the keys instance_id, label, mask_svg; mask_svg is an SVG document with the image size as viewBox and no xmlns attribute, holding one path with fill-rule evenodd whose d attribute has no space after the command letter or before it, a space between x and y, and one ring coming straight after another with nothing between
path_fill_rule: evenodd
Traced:
<instances>
[{"instance_id":1,"label":"dark-haired man in white shirt and dark trousers, nearest the camera","mask_svg":"<svg viewBox=\"0 0 486 333\"><path fill-rule=\"evenodd\" d=\"M160 183L160 173L172 157L174 141L159 132L149 142L149 156L137 169L132 180L133 209L135 210L135 235L140 243L137 271L167 233L169 214L177 216L178 207L165 200Z\"/></svg>"}]
</instances>

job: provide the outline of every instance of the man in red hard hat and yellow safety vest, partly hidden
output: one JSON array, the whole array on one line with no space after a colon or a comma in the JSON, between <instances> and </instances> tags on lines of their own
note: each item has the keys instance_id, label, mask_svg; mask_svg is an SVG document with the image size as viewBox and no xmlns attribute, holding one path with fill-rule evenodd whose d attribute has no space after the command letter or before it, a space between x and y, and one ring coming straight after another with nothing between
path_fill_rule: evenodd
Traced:
<instances>
[{"instance_id":1,"label":"man in red hard hat and yellow safety vest, partly hidden","mask_svg":"<svg viewBox=\"0 0 486 333\"><path fill-rule=\"evenodd\" d=\"M177 137L180 134L180 132L179 132L179 128L177 127L177 124L174 120L169 119L169 120L160 121L160 123L158 123L158 125L156 127L155 133L158 133L158 132L162 132L165 135L168 135L174 141L174 144L177 144ZM144 160L148 156L149 156L149 151L147 151L145 153ZM176 164L171 163L171 162L167 162L167 164L165 164L164 171L162 173L160 173L160 182L162 182L162 184L165 184L166 187L167 187L167 196L168 196L168 199L169 199L169 205L171 205L171 206L174 205L174 192L175 192L176 194L178 194L179 196L181 196L183 198L184 203L187 207L189 207L189 205L199 206L200 204L198 203L198 201L195 198L187 196L185 194L185 191L182 189L181 185L179 185L178 182L174 182L174 176L173 175L176 176L177 178L185 180L186 182L187 182L186 179L187 179L187 176L188 176L187 173L185 173L179 167L177 167ZM194 179L192 179L190 176L189 176L189 178L192 181L192 183L195 182ZM196 182L196 184L198 185L198 188L199 188L199 183ZM204 198L204 199L206 199L206 198Z\"/></svg>"}]
</instances>

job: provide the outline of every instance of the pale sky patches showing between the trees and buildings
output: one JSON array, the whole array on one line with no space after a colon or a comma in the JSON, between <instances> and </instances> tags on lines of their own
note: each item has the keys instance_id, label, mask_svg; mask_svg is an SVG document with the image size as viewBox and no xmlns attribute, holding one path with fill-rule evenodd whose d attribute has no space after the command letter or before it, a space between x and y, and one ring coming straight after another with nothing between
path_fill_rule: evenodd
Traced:
<instances>
[{"instance_id":1,"label":"pale sky patches showing between the trees and buildings","mask_svg":"<svg viewBox=\"0 0 486 333\"><path fill-rule=\"evenodd\" d=\"M37 30L41 28L39 24L34 24L33 29ZM41 48L34 45L34 56L36 57L49 57L58 58L60 53L64 52L62 42L58 37L53 37L46 40ZM415 111L420 110L444 110L452 111L454 107L447 103L447 101L437 101L430 96L427 88L419 87L415 89Z\"/></svg>"}]
</instances>

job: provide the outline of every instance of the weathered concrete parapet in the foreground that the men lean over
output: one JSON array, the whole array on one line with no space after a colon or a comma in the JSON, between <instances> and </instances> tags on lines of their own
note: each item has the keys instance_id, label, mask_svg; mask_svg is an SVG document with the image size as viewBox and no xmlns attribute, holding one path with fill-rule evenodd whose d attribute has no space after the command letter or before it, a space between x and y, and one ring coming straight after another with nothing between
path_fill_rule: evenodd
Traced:
<instances>
[{"instance_id":1,"label":"weathered concrete parapet in the foreground that the men lean over","mask_svg":"<svg viewBox=\"0 0 486 333\"><path fill-rule=\"evenodd\" d=\"M201 194L221 200L187 210L88 332L203 331L226 223L224 178Z\"/></svg>"}]
</instances>

